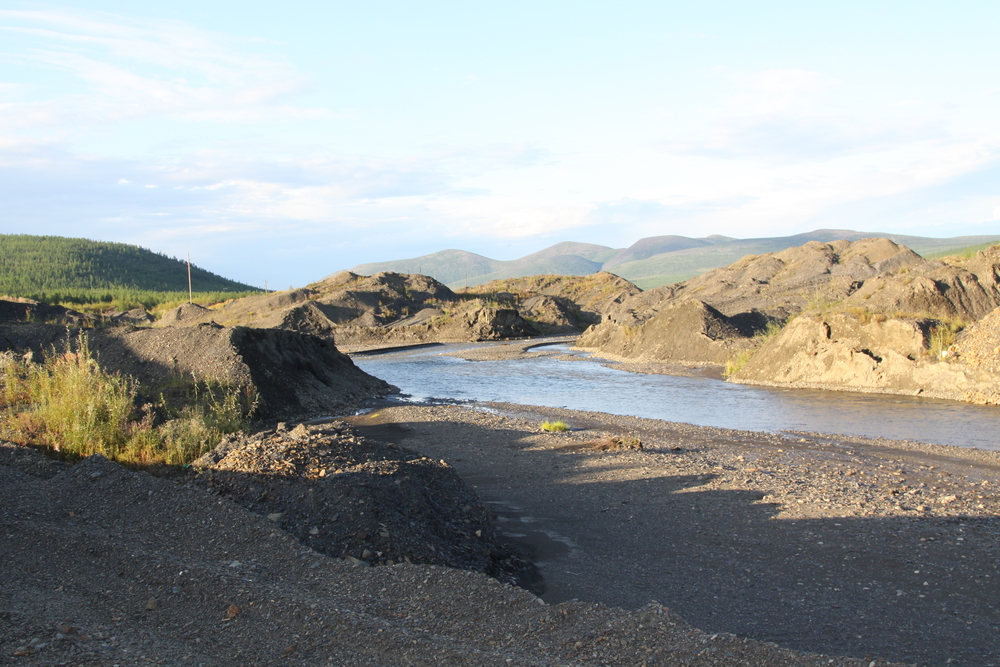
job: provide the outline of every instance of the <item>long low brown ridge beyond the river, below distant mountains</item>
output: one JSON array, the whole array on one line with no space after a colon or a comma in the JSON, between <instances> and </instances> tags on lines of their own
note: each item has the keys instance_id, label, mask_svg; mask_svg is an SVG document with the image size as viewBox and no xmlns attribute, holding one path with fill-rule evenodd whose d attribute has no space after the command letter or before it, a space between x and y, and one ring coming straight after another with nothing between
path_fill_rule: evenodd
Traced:
<instances>
[{"instance_id":1,"label":"long low brown ridge beyond the river, below distant mountains","mask_svg":"<svg viewBox=\"0 0 1000 667\"><path fill-rule=\"evenodd\" d=\"M609 273L498 281L455 293L422 275L334 274L303 289L251 296L220 307L185 304L158 326L275 328L333 340L342 348L579 333L639 289Z\"/></svg>"}]
</instances>

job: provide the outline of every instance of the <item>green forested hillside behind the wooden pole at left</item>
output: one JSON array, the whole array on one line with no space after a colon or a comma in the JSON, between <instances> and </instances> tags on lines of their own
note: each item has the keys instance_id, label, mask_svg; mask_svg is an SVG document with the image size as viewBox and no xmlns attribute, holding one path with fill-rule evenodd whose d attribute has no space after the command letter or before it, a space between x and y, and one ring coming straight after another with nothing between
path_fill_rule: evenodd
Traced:
<instances>
[{"instance_id":1,"label":"green forested hillside behind the wooden pole at left","mask_svg":"<svg viewBox=\"0 0 1000 667\"><path fill-rule=\"evenodd\" d=\"M199 293L259 291L195 266L191 267L191 283ZM0 235L0 294L48 303L146 303L150 294L186 296L187 290L185 262L139 246L60 236Z\"/></svg>"}]
</instances>

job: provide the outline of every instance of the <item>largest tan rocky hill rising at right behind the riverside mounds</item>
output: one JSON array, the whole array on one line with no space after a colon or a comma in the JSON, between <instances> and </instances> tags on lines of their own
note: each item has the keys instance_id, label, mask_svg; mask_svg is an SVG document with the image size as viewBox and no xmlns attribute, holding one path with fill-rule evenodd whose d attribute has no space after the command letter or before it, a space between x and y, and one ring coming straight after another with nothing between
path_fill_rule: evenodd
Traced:
<instances>
[{"instance_id":1,"label":"largest tan rocky hill rising at right behind the riverside mounds","mask_svg":"<svg viewBox=\"0 0 1000 667\"><path fill-rule=\"evenodd\" d=\"M755 333L802 312L831 317L838 312L861 313L865 317L877 316L879 321L908 318L969 323L1000 305L998 276L1000 246L970 259L929 261L888 239L814 241L778 253L747 256L687 282L630 296L611 309L599 327L584 334L577 346L613 359L642 356L650 361L673 361L678 348L695 354L696 346L677 340L670 346L647 343L645 351L637 343L657 338L656 334L646 333L651 327L662 328L653 322L678 303L691 299L704 302L727 318L735 331L728 339L729 345L737 350L756 346L762 338L750 338ZM841 318L844 322L849 319ZM672 335L698 340L702 336L701 324L694 320L690 324L687 331L675 326ZM886 333L872 335L881 340ZM705 349L704 357L689 360L718 363L723 347L719 343ZM858 349L867 347L861 345ZM888 366L883 366L881 372L888 373ZM873 381L858 382L867 386ZM815 383L822 384L819 380Z\"/></svg>"}]
</instances>

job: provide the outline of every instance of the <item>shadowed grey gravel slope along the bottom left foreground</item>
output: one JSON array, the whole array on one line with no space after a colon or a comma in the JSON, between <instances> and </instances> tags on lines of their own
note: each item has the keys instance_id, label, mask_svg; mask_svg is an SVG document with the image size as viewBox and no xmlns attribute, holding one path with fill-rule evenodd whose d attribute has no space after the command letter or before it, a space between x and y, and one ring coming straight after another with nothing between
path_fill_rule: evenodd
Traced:
<instances>
[{"instance_id":1,"label":"shadowed grey gravel slope along the bottom left foreground","mask_svg":"<svg viewBox=\"0 0 1000 667\"><path fill-rule=\"evenodd\" d=\"M187 477L0 445L0 664L887 664L703 632L658 603L546 604L468 570L369 567L293 532Z\"/></svg>"}]
</instances>

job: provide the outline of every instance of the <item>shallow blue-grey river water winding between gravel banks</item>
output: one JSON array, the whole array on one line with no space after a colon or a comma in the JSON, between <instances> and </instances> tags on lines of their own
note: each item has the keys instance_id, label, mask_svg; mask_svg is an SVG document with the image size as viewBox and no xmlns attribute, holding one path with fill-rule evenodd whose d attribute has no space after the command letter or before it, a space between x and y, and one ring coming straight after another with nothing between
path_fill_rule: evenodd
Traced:
<instances>
[{"instance_id":1,"label":"shallow blue-grey river water winding between gravel banks","mask_svg":"<svg viewBox=\"0 0 1000 667\"><path fill-rule=\"evenodd\" d=\"M730 384L642 375L585 359L466 361L443 345L357 356L408 400L497 401L751 431L810 431L1000 450L1000 407L911 396ZM565 347L555 349L567 351Z\"/></svg>"}]
</instances>

